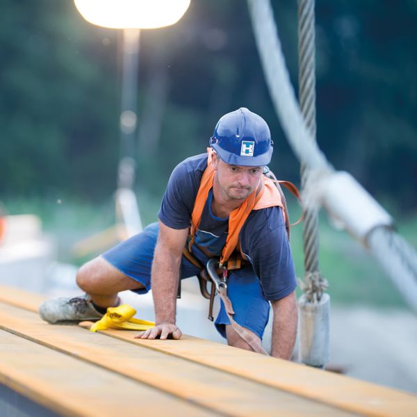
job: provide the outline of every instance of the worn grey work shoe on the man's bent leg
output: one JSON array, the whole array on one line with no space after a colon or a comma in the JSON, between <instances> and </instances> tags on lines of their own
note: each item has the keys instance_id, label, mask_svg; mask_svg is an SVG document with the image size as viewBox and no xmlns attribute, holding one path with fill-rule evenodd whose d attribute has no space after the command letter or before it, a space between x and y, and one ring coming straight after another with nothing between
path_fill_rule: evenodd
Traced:
<instances>
[{"instance_id":1,"label":"worn grey work shoe on the man's bent leg","mask_svg":"<svg viewBox=\"0 0 417 417\"><path fill-rule=\"evenodd\" d=\"M99 320L103 317L103 314L94 308L87 294L81 297L47 300L40 304L39 314L43 320L51 324Z\"/></svg>"}]
</instances>

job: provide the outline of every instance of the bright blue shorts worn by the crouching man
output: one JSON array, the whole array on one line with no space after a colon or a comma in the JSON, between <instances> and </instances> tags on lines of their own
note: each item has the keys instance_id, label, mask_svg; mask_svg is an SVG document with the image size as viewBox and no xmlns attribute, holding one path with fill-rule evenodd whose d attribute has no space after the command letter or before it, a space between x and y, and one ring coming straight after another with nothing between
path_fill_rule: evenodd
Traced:
<instances>
[{"instance_id":1,"label":"bright blue shorts worn by the crouching man","mask_svg":"<svg viewBox=\"0 0 417 417\"><path fill-rule=\"evenodd\" d=\"M135 279L145 287L133 290L135 293L145 294L151 289L151 266L158 231L158 223L149 224L140 234L124 240L101 255L124 275ZM197 248L193 247L193 254L203 265L206 264L207 257ZM196 268L184 256L182 257L181 279L194 277L199 272L201 272L199 268ZM268 324L270 304L263 295L261 283L251 265L240 270L229 271L227 295L233 305L236 322L262 338ZM223 302L221 302L214 324L218 332L226 338L225 325L229 325L230 320Z\"/></svg>"}]
</instances>

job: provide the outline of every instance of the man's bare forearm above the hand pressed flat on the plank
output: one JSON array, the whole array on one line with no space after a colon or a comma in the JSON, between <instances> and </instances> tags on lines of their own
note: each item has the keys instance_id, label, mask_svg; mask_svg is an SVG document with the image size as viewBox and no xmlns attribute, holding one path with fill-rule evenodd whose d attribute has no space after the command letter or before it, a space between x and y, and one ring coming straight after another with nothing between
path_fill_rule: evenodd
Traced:
<instances>
[{"instance_id":1,"label":"man's bare forearm above the hand pressed flat on the plank","mask_svg":"<svg viewBox=\"0 0 417 417\"><path fill-rule=\"evenodd\" d=\"M156 245L152 263L152 296L156 325L175 322L181 256L172 256L162 245Z\"/></svg>"}]
</instances>

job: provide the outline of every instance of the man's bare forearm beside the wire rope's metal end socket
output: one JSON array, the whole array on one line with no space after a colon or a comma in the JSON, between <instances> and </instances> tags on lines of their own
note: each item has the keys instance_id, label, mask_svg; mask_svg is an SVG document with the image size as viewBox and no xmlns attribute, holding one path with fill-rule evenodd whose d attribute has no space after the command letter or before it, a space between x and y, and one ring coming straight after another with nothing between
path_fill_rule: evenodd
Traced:
<instances>
[{"instance_id":1,"label":"man's bare forearm beside the wire rope's metal end socket","mask_svg":"<svg viewBox=\"0 0 417 417\"><path fill-rule=\"evenodd\" d=\"M271 304L274 311L271 355L281 359L290 359L297 336L298 309L295 293Z\"/></svg>"}]
</instances>

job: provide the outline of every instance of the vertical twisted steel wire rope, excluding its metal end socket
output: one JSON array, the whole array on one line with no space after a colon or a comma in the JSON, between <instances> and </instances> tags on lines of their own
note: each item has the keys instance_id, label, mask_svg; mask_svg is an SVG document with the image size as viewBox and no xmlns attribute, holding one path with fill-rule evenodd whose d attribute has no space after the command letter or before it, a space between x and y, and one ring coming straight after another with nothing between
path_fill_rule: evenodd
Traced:
<instances>
[{"instance_id":1,"label":"vertical twisted steel wire rope, excluding its metal end socket","mask_svg":"<svg viewBox=\"0 0 417 417\"><path fill-rule=\"evenodd\" d=\"M316 30L315 0L298 0L298 97L300 110L310 133L316 141ZM302 192L309 182L309 169L302 161L300 167ZM318 209L303 204L304 282L300 286L308 302L318 302L328 284L318 266Z\"/></svg>"}]
</instances>

